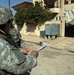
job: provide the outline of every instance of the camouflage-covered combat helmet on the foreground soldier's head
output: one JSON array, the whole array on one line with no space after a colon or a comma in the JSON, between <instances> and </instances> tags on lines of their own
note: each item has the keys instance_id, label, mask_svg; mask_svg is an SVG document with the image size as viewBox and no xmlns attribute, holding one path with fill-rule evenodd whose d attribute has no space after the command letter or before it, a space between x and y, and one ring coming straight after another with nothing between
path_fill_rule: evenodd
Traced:
<instances>
[{"instance_id":1,"label":"camouflage-covered combat helmet on the foreground soldier's head","mask_svg":"<svg viewBox=\"0 0 74 75\"><path fill-rule=\"evenodd\" d=\"M11 19L13 19L12 12L8 8L0 5L0 25L7 23Z\"/></svg>"}]
</instances>

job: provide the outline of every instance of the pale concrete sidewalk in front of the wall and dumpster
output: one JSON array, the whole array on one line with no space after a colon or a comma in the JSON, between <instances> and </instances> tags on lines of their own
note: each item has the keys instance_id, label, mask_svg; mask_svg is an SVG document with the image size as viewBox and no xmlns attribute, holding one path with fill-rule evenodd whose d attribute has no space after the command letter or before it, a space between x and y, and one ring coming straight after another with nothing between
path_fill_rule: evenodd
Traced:
<instances>
[{"instance_id":1,"label":"pale concrete sidewalk in front of the wall and dumpster","mask_svg":"<svg viewBox=\"0 0 74 75\"><path fill-rule=\"evenodd\" d=\"M28 42L33 42L40 44L40 42L48 43L48 46L54 49L62 50L67 49L69 51L74 51L74 37L57 37L56 39L51 40L46 38L41 38L38 36L23 35L22 39Z\"/></svg>"}]
</instances>

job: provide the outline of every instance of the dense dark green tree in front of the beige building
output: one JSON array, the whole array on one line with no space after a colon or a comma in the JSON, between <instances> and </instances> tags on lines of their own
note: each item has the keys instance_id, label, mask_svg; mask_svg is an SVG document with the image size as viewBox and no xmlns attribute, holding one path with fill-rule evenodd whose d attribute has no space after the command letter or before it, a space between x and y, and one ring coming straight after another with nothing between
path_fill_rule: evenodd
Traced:
<instances>
[{"instance_id":1,"label":"dense dark green tree in front of the beige building","mask_svg":"<svg viewBox=\"0 0 74 75\"><path fill-rule=\"evenodd\" d=\"M40 5L30 6L27 9L20 9L15 14L15 22L17 24L40 24L53 18L51 12L47 12Z\"/></svg>"}]
</instances>

